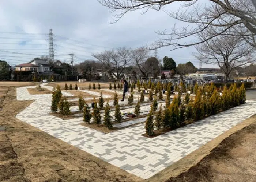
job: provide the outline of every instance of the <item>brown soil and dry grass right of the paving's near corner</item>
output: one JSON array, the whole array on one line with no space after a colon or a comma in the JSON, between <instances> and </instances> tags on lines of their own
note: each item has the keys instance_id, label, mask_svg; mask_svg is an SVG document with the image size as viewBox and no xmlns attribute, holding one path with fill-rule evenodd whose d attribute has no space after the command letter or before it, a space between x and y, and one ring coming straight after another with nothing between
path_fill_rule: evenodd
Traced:
<instances>
[{"instance_id":1,"label":"brown soil and dry grass right of the paving's near corner","mask_svg":"<svg viewBox=\"0 0 256 182\"><path fill-rule=\"evenodd\" d=\"M256 176L256 115L221 134L149 182L254 182Z\"/></svg>"}]
</instances>

